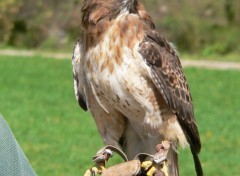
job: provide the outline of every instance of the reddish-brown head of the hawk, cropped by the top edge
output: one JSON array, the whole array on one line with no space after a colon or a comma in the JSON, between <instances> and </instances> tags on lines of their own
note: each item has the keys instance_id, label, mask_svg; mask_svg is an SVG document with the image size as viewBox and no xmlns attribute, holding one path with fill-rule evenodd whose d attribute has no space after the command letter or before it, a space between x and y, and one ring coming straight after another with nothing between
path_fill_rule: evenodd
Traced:
<instances>
[{"instance_id":1,"label":"reddish-brown head of the hawk, cropped by the top edge","mask_svg":"<svg viewBox=\"0 0 240 176\"><path fill-rule=\"evenodd\" d=\"M137 14L151 28L155 27L140 0L84 0L82 27L86 31L103 31L106 22L123 13Z\"/></svg>"}]
</instances>

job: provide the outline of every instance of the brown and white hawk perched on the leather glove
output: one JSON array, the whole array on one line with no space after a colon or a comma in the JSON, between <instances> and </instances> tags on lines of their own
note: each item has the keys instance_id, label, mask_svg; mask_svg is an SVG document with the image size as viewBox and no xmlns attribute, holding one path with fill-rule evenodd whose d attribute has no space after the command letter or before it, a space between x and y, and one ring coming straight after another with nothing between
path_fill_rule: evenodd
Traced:
<instances>
[{"instance_id":1,"label":"brown and white hawk perched on the leather glove","mask_svg":"<svg viewBox=\"0 0 240 176\"><path fill-rule=\"evenodd\" d=\"M106 145L131 159L163 140L190 146L198 176L201 142L192 98L174 47L140 0L84 0L82 34L72 57L74 88ZM176 150L169 175L178 176Z\"/></svg>"}]
</instances>

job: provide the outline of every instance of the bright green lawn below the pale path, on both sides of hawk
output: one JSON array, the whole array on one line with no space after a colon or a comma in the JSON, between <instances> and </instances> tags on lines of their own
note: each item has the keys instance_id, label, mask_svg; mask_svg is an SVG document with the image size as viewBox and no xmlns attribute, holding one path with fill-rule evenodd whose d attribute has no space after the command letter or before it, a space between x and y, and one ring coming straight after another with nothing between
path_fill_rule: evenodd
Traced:
<instances>
[{"instance_id":1,"label":"bright green lawn below the pale path, on both sides of hawk","mask_svg":"<svg viewBox=\"0 0 240 176\"><path fill-rule=\"evenodd\" d=\"M0 113L39 175L83 175L102 146L73 94L70 60L0 56ZM240 77L237 71L185 70L202 139L205 175L239 175ZM194 175L189 150L182 175Z\"/></svg>"}]
</instances>

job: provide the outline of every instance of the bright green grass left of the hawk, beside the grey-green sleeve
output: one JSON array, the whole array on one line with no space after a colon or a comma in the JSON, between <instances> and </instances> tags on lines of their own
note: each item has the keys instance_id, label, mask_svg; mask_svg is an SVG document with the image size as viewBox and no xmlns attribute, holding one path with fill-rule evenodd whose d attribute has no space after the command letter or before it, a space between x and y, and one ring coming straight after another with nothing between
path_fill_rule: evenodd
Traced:
<instances>
[{"instance_id":1,"label":"bright green grass left of the hawk, beside the grey-green sleeve","mask_svg":"<svg viewBox=\"0 0 240 176\"><path fill-rule=\"evenodd\" d=\"M102 145L76 103L70 64L0 57L0 112L39 175L81 175Z\"/></svg>"}]
</instances>

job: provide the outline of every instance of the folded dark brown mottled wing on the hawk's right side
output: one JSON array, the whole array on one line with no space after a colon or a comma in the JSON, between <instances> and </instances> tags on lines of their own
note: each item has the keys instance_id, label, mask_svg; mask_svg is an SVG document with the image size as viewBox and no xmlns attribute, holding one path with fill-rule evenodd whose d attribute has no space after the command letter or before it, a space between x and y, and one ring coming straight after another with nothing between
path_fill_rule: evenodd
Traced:
<instances>
[{"instance_id":1,"label":"folded dark brown mottled wing on the hawk's right side","mask_svg":"<svg viewBox=\"0 0 240 176\"><path fill-rule=\"evenodd\" d=\"M176 51L156 31L149 30L140 44L139 52L150 67L150 79L177 115L191 148L199 153L201 142L192 97Z\"/></svg>"}]
</instances>

